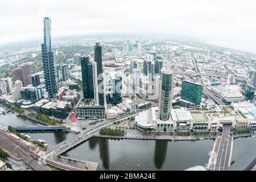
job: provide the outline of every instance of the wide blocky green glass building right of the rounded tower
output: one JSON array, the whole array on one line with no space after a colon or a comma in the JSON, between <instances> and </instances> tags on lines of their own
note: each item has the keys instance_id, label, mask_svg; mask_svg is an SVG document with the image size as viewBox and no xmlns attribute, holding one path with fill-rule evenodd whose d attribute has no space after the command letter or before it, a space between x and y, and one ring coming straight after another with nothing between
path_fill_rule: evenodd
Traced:
<instances>
[{"instance_id":1,"label":"wide blocky green glass building right of the rounded tower","mask_svg":"<svg viewBox=\"0 0 256 182\"><path fill-rule=\"evenodd\" d=\"M200 105L203 96L203 85L197 82L184 80L180 93L181 99Z\"/></svg>"}]
</instances>

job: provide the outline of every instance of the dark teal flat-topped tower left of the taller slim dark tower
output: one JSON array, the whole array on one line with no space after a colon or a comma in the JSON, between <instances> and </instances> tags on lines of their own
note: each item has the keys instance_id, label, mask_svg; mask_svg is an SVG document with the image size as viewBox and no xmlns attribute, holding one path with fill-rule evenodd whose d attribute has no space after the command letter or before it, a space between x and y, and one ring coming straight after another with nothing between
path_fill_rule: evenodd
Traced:
<instances>
[{"instance_id":1,"label":"dark teal flat-topped tower left of the taller slim dark tower","mask_svg":"<svg viewBox=\"0 0 256 182\"><path fill-rule=\"evenodd\" d=\"M82 92L84 98L94 98L93 90L93 65L90 63L90 56L81 57L82 71Z\"/></svg>"}]
</instances>

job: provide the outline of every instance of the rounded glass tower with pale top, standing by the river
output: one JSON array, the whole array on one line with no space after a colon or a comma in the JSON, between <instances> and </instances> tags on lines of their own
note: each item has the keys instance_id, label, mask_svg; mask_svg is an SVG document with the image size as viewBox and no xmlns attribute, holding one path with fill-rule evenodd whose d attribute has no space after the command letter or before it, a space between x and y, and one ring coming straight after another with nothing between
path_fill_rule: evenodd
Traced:
<instances>
[{"instance_id":1,"label":"rounded glass tower with pale top, standing by the river","mask_svg":"<svg viewBox=\"0 0 256 182\"><path fill-rule=\"evenodd\" d=\"M162 121L170 118L172 108L172 94L174 87L174 73L171 69L162 68L159 87L158 117Z\"/></svg>"}]
</instances>

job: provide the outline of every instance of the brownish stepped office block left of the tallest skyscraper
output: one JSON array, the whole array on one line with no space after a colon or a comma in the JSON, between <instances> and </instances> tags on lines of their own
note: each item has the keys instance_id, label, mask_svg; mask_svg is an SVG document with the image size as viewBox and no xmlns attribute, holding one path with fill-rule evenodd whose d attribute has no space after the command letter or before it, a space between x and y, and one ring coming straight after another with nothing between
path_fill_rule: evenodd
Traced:
<instances>
[{"instance_id":1,"label":"brownish stepped office block left of the tallest skyscraper","mask_svg":"<svg viewBox=\"0 0 256 182\"><path fill-rule=\"evenodd\" d=\"M22 81L24 86L31 85L31 69L29 64L23 64L19 68L13 69L14 82L16 80Z\"/></svg>"}]
</instances>

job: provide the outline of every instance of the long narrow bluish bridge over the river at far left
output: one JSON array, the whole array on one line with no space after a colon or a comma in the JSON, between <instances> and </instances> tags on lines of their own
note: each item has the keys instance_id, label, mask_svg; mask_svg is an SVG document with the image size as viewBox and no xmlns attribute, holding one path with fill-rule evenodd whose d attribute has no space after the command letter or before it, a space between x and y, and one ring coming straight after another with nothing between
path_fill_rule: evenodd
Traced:
<instances>
[{"instance_id":1,"label":"long narrow bluish bridge over the river at far left","mask_svg":"<svg viewBox=\"0 0 256 182\"><path fill-rule=\"evenodd\" d=\"M14 126L16 131L63 131L68 130L65 126Z\"/></svg>"}]
</instances>

